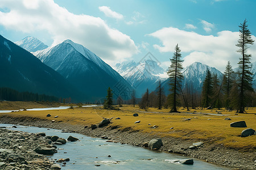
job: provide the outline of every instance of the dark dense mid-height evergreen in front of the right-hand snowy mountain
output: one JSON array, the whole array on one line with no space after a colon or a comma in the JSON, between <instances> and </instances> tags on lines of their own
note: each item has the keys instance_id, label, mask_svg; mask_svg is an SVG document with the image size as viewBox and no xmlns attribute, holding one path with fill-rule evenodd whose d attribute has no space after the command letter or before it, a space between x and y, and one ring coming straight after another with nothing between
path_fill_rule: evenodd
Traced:
<instances>
[{"instance_id":1,"label":"dark dense mid-height evergreen in front of the right-hand snowy mountain","mask_svg":"<svg viewBox=\"0 0 256 170\"><path fill-rule=\"evenodd\" d=\"M202 90L203 107L205 108L209 107L212 95L213 95L213 78L212 78L212 73L210 73L210 70L207 69L207 74L203 82L203 90Z\"/></svg>"}]
</instances>

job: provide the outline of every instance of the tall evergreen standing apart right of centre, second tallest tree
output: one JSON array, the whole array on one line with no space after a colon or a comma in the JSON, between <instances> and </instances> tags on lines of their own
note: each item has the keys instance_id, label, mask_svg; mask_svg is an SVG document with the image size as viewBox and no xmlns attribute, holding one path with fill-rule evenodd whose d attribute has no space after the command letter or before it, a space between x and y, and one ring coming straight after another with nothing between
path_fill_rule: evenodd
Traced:
<instances>
[{"instance_id":1,"label":"tall evergreen standing apart right of centre, second tallest tree","mask_svg":"<svg viewBox=\"0 0 256 170\"><path fill-rule=\"evenodd\" d=\"M168 68L167 74L170 79L170 105L171 105L171 112L177 112L177 95L179 94L179 90L181 89L181 81L183 79L183 75L181 71L183 69L181 59L181 50L178 44L174 48L174 56L170 59L171 65Z\"/></svg>"}]
</instances>

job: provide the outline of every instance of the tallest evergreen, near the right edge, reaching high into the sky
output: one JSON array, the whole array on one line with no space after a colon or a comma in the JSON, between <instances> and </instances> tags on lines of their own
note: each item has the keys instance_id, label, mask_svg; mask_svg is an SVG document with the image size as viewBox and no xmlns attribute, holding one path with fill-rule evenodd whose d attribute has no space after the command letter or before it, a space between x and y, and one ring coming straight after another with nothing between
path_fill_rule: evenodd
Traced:
<instances>
[{"instance_id":1,"label":"tallest evergreen, near the right edge, reaching high into the sky","mask_svg":"<svg viewBox=\"0 0 256 170\"><path fill-rule=\"evenodd\" d=\"M252 81L253 81L253 74L251 73L251 54L247 54L247 49L250 47L250 45L253 45L254 40L251 39L251 32L248 29L248 25L246 24L247 20L245 19L243 23L241 23L238 27L240 28L238 43L236 46L238 46L237 52L242 55L241 58L239 58L238 62L238 90L239 90L239 105L238 105L238 113L243 113L245 111L245 105L246 100L248 99L246 97L246 91L252 92Z\"/></svg>"}]
</instances>

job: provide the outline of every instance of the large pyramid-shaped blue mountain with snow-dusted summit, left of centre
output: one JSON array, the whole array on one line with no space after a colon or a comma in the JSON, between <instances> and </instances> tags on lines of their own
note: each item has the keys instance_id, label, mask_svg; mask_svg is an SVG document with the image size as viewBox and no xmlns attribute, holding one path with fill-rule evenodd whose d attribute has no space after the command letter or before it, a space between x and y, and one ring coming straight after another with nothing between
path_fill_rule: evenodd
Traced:
<instances>
[{"instance_id":1,"label":"large pyramid-shaped blue mountain with snow-dusted summit, left of centre","mask_svg":"<svg viewBox=\"0 0 256 170\"><path fill-rule=\"evenodd\" d=\"M93 100L106 96L108 87L115 97L130 98L130 84L107 63L84 46L71 40L34 53Z\"/></svg>"}]
</instances>

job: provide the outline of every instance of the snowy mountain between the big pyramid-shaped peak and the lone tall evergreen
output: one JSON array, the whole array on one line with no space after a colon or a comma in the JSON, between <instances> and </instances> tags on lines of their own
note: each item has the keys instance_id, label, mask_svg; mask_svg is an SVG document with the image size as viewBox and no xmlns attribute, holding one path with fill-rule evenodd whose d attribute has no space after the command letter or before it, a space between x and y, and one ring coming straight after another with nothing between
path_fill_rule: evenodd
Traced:
<instances>
[{"instance_id":1,"label":"snowy mountain between the big pyramid-shaped peak and the lone tall evergreen","mask_svg":"<svg viewBox=\"0 0 256 170\"><path fill-rule=\"evenodd\" d=\"M146 89L154 91L158 80L166 80L166 71L152 59L141 62L117 63L114 67L133 86L137 92L137 97L141 97Z\"/></svg>"}]
</instances>

